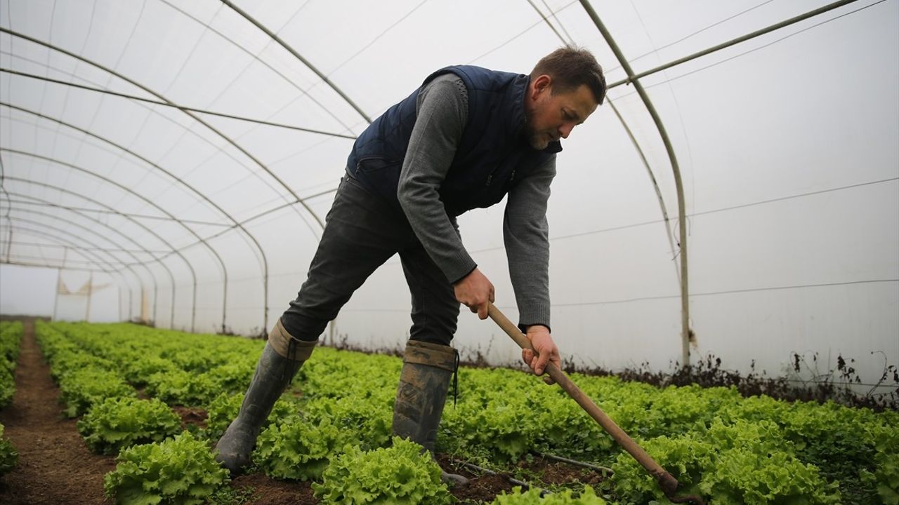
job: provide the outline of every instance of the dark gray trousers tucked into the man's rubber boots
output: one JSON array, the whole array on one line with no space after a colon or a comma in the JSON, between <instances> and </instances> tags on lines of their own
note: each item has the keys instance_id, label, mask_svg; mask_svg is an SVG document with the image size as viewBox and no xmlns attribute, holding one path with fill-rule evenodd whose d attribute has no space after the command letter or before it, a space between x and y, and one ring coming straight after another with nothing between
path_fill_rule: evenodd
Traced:
<instances>
[{"instance_id":1,"label":"dark gray trousers tucked into the man's rubber boots","mask_svg":"<svg viewBox=\"0 0 899 505\"><path fill-rule=\"evenodd\" d=\"M453 226L456 219L450 217ZM459 303L452 286L424 250L405 215L344 175L325 232L297 299L281 315L287 332L316 341L365 279L399 253L412 294L411 340L449 345Z\"/></svg>"}]
</instances>

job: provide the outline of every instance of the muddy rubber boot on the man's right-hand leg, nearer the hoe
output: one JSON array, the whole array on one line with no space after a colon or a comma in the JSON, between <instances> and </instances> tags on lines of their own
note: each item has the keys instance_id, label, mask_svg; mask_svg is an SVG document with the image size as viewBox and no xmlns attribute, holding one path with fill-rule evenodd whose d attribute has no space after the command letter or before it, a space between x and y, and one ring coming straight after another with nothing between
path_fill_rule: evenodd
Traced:
<instances>
[{"instance_id":1,"label":"muddy rubber boot on the man's right-hand leg, nearer the hoe","mask_svg":"<svg viewBox=\"0 0 899 505\"><path fill-rule=\"evenodd\" d=\"M421 444L434 457L437 427L446 403L449 379L456 369L456 352L448 345L409 341L403 371L396 388L393 434ZM468 479L441 469L450 485L467 485Z\"/></svg>"}]
</instances>

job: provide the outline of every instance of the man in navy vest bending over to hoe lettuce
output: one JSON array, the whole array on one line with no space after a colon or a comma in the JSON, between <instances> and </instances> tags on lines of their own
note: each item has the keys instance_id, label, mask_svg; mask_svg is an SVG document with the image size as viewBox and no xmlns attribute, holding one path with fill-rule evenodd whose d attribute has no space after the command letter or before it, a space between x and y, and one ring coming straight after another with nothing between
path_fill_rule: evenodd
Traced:
<instances>
[{"instance_id":1,"label":"man in navy vest bending over to hoe lettuce","mask_svg":"<svg viewBox=\"0 0 899 505\"><path fill-rule=\"evenodd\" d=\"M325 325L362 282L399 253L412 293L412 329L396 392L393 430L433 454L455 371L449 346L459 304L487 317L494 286L468 255L456 217L508 194L503 238L519 325L540 375L559 364L549 332L546 208L556 153L602 103L590 52L561 48L530 75L449 66L428 76L356 139L325 231L298 297L271 330L217 459L233 473L250 462L263 421ZM463 483L458 475L444 479Z\"/></svg>"}]
</instances>

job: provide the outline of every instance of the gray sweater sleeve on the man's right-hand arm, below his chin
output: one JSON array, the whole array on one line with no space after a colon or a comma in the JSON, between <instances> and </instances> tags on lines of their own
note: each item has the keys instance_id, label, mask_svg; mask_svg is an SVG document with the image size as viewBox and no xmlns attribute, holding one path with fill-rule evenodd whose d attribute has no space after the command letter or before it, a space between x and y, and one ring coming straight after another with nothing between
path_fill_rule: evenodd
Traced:
<instances>
[{"instance_id":1,"label":"gray sweater sleeve on the man's right-hand arm, below his chin","mask_svg":"<svg viewBox=\"0 0 899 505\"><path fill-rule=\"evenodd\" d=\"M519 327L549 328L549 183L556 176L556 156L515 184L503 218L509 277L518 303Z\"/></svg>"}]
</instances>

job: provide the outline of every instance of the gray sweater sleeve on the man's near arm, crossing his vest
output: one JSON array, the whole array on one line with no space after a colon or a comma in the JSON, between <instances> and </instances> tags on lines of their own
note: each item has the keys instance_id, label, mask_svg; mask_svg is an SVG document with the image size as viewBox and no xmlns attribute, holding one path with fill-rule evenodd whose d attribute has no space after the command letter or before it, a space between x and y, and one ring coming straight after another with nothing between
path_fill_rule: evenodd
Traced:
<instances>
[{"instance_id":1,"label":"gray sweater sleeve on the man's near arm, crossing his vest","mask_svg":"<svg viewBox=\"0 0 899 505\"><path fill-rule=\"evenodd\" d=\"M458 75L441 75L418 94L417 116L396 196L409 224L449 282L477 264L462 245L440 197L468 117L468 93Z\"/></svg>"}]
</instances>

